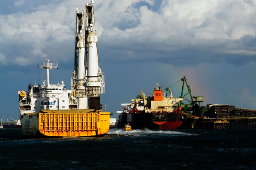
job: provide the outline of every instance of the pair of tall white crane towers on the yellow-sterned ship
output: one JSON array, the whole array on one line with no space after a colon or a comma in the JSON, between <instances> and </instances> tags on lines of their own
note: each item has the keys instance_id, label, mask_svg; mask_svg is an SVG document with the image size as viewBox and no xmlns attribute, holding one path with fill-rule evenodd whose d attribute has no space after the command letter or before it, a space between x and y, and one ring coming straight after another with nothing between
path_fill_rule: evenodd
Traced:
<instances>
[{"instance_id":1,"label":"pair of tall white crane towers on the yellow-sterned ship","mask_svg":"<svg viewBox=\"0 0 256 170\"><path fill-rule=\"evenodd\" d=\"M93 3L91 0L85 4L84 11L76 8L76 49L71 89L78 98L78 109L99 109L93 107L93 103L96 100L100 105L98 95L105 91L104 75L98 60Z\"/></svg>"}]
</instances>

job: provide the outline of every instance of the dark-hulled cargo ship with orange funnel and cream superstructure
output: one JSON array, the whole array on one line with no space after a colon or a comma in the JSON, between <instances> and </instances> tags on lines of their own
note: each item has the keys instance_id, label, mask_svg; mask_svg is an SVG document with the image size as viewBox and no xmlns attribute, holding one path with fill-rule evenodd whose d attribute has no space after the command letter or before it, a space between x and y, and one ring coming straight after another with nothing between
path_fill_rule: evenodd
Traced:
<instances>
[{"instance_id":1,"label":"dark-hulled cargo ship with orange funnel and cream superstructure","mask_svg":"<svg viewBox=\"0 0 256 170\"><path fill-rule=\"evenodd\" d=\"M182 101L182 98L173 98L172 92L166 88L166 96L163 95L158 83L154 89L154 95L145 97L141 90L137 99L132 99L131 103L121 104L123 111L118 111L118 128L124 128L127 122L132 129L176 129L182 124L181 108L174 110L173 105ZM169 96L167 97L167 93Z\"/></svg>"}]
</instances>

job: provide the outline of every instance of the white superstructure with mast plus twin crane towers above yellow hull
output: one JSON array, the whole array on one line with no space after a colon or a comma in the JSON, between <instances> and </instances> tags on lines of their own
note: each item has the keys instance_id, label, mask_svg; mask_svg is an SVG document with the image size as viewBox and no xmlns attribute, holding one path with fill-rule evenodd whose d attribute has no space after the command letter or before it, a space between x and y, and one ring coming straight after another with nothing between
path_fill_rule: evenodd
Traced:
<instances>
[{"instance_id":1,"label":"white superstructure with mast plus twin crane towers above yellow hull","mask_svg":"<svg viewBox=\"0 0 256 170\"><path fill-rule=\"evenodd\" d=\"M20 114L40 110L95 109L100 110L99 95L105 91L104 75L99 67L94 1L85 4L84 11L76 8L76 46L71 90L64 82L50 84L50 69L58 64L47 59L38 68L47 70L47 80L42 85L29 85L28 91L18 91ZM89 102L88 102L89 101Z\"/></svg>"}]
</instances>

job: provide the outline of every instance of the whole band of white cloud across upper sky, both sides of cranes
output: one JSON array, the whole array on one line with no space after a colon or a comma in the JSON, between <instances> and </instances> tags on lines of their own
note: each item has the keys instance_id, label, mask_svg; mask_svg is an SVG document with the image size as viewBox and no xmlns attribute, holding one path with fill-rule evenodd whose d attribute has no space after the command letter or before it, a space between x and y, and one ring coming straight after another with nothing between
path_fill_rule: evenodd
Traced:
<instances>
[{"instance_id":1,"label":"whole band of white cloud across upper sky, both sides of cranes","mask_svg":"<svg viewBox=\"0 0 256 170\"><path fill-rule=\"evenodd\" d=\"M15 3L22 2L27 3ZM151 7L157 5L156 1L145 1L150 8L138 2L143 1L95 1L99 41L112 59L164 62L169 58L175 63L177 56L182 56L184 60L193 57L208 62L214 55L256 53L253 0L163 0L154 11ZM45 57L72 60L75 8L82 9L83 5L83 0L65 0L29 9L32 12L1 15L0 45L2 53L9 56L6 62L19 63L19 56L33 62Z\"/></svg>"}]
</instances>

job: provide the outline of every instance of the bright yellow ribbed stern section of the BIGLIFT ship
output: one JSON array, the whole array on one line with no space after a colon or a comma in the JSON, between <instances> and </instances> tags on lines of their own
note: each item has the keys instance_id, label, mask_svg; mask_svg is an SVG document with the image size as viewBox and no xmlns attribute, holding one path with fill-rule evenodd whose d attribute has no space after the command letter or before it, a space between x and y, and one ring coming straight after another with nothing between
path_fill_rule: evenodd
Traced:
<instances>
[{"instance_id":1,"label":"bright yellow ribbed stern section of the BIGLIFT ship","mask_svg":"<svg viewBox=\"0 0 256 170\"><path fill-rule=\"evenodd\" d=\"M65 111L60 113L56 110L57 113L54 113L54 110L50 110L52 113L39 113L39 132L46 136L88 137L104 135L109 131L109 112Z\"/></svg>"}]
</instances>

